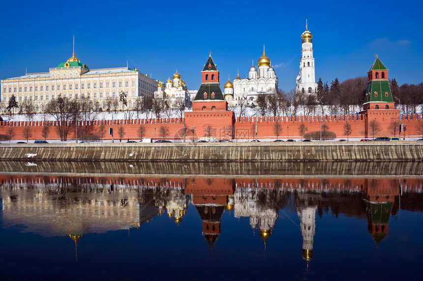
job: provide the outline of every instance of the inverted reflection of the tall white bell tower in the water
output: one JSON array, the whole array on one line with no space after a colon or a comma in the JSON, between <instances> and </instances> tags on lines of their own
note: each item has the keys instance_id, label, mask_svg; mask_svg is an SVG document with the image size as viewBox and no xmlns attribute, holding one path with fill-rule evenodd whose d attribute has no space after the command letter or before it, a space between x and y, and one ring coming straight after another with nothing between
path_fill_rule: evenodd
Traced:
<instances>
[{"instance_id":1,"label":"inverted reflection of the tall white bell tower in the water","mask_svg":"<svg viewBox=\"0 0 423 281\"><path fill-rule=\"evenodd\" d=\"M316 209L318 195L301 193L297 197L297 210L302 234L302 258L308 262L313 258L313 240L316 232Z\"/></svg>"}]
</instances>

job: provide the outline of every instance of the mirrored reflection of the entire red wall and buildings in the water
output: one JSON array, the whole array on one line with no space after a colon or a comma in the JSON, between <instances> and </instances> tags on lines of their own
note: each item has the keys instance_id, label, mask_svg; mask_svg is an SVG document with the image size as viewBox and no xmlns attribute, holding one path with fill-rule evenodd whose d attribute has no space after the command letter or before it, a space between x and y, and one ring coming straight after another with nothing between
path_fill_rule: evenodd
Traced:
<instances>
[{"instance_id":1,"label":"mirrored reflection of the entire red wall and buildings in the water","mask_svg":"<svg viewBox=\"0 0 423 281\"><path fill-rule=\"evenodd\" d=\"M190 204L202 221L202 235L212 249L224 235L221 217L231 212L248 218L249 228L271 239L279 215L294 211L302 235L302 257L313 258L316 214L329 211L366 218L376 245L388 235L399 208L423 210L420 177L407 179L339 178L113 178L78 176L0 176L3 227L44 237L70 236L140 228L166 213L181 223ZM200 226L198 226L198 229ZM195 227L193 231L195 231ZM223 232L223 233L222 233Z\"/></svg>"}]
</instances>

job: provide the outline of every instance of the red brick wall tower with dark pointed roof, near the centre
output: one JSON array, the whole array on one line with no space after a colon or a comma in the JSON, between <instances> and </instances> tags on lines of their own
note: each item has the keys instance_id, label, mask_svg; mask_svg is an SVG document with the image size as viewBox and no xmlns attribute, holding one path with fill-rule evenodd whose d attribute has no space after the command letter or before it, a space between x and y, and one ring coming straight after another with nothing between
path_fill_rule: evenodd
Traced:
<instances>
[{"instance_id":1,"label":"red brick wall tower with dark pointed roof, near the centre","mask_svg":"<svg viewBox=\"0 0 423 281\"><path fill-rule=\"evenodd\" d=\"M201 86L192 102L192 111L184 115L185 125L193 132L192 141L234 137L235 115L228 110L220 89L219 71L212 53L201 71Z\"/></svg>"}]
</instances>

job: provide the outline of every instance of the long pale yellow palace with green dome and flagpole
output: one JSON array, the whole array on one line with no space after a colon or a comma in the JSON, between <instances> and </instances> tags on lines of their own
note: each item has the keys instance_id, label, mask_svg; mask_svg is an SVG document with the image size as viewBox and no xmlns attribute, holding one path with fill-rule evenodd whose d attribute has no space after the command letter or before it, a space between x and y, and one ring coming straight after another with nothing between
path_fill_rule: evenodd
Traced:
<instances>
[{"instance_id":1,"label":"long pale yellow palace with green dome and flagpole","mask_svg":"<svg viewBox=\"0 0 423 281\"><path fill-rule=\"evenodd\" d=\"M126 94L127 107L132 109L138 97L153 97L157 80L144 75L138 69L105 68L89 69L75 57L46 73L32 73L1 80L1 111L6 112L9 99L16 97L19 106L25 101L33 103L34 112L43 112L46 105L59 95L68 99L88 98L99 109L107 108L113 101L117 108L121 92ZM117 104L118 102L118 104Z\"/></svg>"}]
</instances>

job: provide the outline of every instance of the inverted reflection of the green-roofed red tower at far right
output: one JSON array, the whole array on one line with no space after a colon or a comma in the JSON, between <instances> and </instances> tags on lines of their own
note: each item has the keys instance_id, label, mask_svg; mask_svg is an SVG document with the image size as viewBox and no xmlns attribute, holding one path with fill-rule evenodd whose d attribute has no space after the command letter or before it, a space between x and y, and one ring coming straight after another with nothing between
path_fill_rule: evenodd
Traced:
<instances>
[{"instance_id":1,"label":"inverted reflection of the green-roofed red tower at far right","mask_svg":"<svg viewBox=\"0 0 423 281\"><path fill-rule=\"evenodd\" d=\"M390 179L366 179L364 191L368 231L378 247L388 234L388 222L399 189L397 182Z\"/></svg>"}]
</instances>

